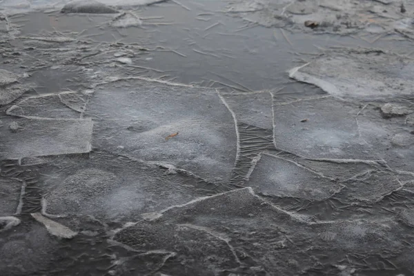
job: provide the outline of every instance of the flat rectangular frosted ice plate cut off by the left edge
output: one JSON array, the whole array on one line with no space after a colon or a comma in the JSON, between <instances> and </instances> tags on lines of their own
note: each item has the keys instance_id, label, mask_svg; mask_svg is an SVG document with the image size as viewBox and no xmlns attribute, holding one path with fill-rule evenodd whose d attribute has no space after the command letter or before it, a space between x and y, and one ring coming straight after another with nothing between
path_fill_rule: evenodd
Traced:
<instances>
[{"instance_id":1,"label":"flat rectangular frosted ice plate cut off by the left edge","mask_svg":"<svg viewBox=\"0 0 414 276\"><path fill-rule=\"evenodd\" d=\"M1 158L84 153L91 149L92 120L16 119L0 132Z\"/></svg>"}]
</instances>

